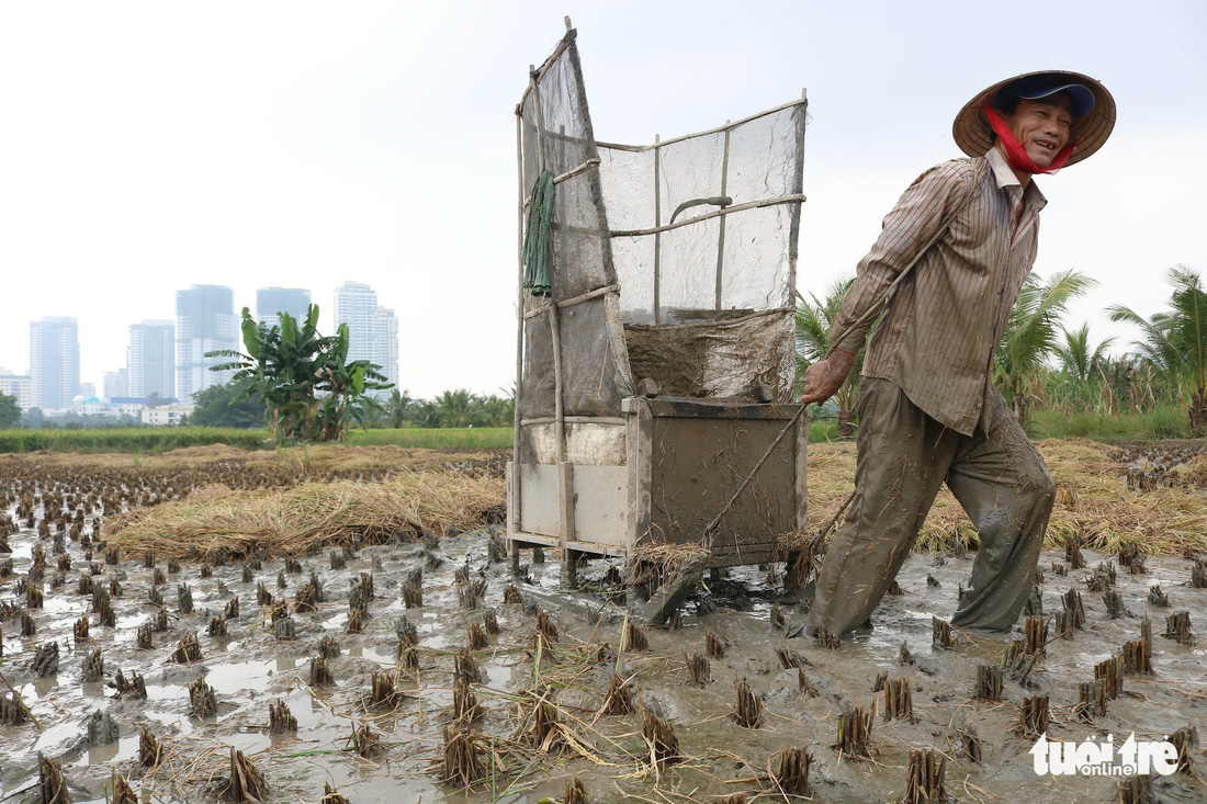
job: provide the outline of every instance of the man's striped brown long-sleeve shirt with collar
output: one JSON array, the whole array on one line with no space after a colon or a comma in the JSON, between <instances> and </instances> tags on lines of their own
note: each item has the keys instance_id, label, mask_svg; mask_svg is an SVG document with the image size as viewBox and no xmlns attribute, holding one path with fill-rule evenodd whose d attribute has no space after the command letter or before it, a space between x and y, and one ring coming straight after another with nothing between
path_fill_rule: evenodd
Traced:
<instances>
[{"instance_id":1,"label":"man's striped brown long-sleeve shirt with collar","mask_svg":"<svg viewBox=\"0 0 1207 804\"><path fill-rule=\"evenodd\" d=\"M1036 261L1043 193L1024 191L991 148L944 162L919 176L885 217L871 251L830 330L830 343L856 353L876 305L897 275L943 227L885 309L863 362L939 423L972 435L980 421L993 353Z\"/></svg>"}]
</instances>

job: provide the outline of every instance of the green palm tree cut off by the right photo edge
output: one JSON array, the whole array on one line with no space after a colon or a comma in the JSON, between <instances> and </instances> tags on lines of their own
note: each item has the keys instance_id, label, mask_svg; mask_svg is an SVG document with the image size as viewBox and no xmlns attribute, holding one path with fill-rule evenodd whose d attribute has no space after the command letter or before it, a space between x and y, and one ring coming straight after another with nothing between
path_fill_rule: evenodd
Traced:
<instances>
[{"instance_id":1,"label":"green palm tree cut off by the right photo edge","mask_svg":"<svg viewBox=\"0 0 1207 804\"><path fill-rule=\"evenodd\" d=\"M1137 353L1178 390L1190 429L1202 433L1207 427L1207 292L1199 274L1185 266L1171 268L1168 278L1173 285L1168 310L1145 319L1123 304L1108 309L1112 321L1141 328Z\"/></svg>"}]
</instances>

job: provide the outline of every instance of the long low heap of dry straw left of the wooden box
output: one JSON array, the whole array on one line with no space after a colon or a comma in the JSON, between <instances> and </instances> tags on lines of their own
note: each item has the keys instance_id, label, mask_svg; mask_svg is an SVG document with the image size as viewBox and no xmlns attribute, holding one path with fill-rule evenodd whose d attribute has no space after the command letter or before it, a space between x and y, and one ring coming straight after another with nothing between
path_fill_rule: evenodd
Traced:
<instances>
[{"instance_id":1,"label":"long low heap of dry straw left of the wooden box","mask_svg":"<svg viewBox=\"0 0 1207 804\"><path fill-rule=\"evenodd\" d=\"M385 449L385 448L379 448ZM303 483L290 489L234 491L204 487L161 506L109 520L111 544L202 559L226 549L269 555L305 553L311 544L366 543L443 536L485 522L503 502L503 483L453 472L398 474L380 483Z\"/></svg>"}]
</instances>

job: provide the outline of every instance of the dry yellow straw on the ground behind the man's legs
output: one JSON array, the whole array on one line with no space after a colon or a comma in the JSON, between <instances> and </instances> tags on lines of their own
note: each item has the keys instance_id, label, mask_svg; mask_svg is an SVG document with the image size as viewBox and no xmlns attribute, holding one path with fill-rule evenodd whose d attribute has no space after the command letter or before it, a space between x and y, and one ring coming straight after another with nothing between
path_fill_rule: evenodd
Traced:
<instances>
[{"instance_id":1,"label":"dry yellow straw on the ground behind the man's legs","mask_svg":"<svg viewBox=\"0 0 1207 804\"><path fill-rule=\"evenodd\" d=\"M1113 447L1073 438L1037 444L1056 480L1056 507L1045 547L1059 549L1066 536L1083 536L1086 544L1114 553L1119 544L1138 542L1148 553L1182 555L1207 549L1207 494L1185 488L1151 491L1127 489ZM809 530L829 522L855 484L855 444L809 447ZM945 488L922 525L916 548L950 549L960 532L975 538L972 523Z\"/></svg>"}]
</instances>

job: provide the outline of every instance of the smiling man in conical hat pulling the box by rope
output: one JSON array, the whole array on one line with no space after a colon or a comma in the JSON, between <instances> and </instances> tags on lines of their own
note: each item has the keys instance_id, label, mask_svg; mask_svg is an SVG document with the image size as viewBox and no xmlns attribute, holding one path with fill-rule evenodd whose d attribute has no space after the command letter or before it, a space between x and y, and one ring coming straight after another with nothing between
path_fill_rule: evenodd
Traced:
<instances>
[{"instance_id":1,"label":"smiling man in conical hat pulling the box by rope","mask_svg":"<svg viewBox=\"0 0 1207 804\"><path fill-rule=\"evenodd\" d=\"M805 372L801 402L833 396L882 313L863 363L855 497L797 633L868 621L944 482L980 538L952 624L1018 621L1056 487L990 369L1036 260L1046 202L1032 177L1097 151L1114 120L1107 89L1077 72L996 83L952 126L972 158L923 173L885 219L830 330L834 349Z\"/></svg>"}]
</instances>

